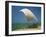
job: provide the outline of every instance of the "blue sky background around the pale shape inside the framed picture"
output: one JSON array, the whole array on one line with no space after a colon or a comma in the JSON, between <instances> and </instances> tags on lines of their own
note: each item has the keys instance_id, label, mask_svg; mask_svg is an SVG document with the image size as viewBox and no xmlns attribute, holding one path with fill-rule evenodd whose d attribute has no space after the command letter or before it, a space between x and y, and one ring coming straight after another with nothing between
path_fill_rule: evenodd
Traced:
<instances>
[{"instance_id":1,"label":"blue sky background around the pale shape inside the framed picture","mask_svg":"<svg viewBox=\"0 0 46 37\"><path fill-rule=\"evenodd\" d=\"M38 21L41 21L41 7L12 6L12 23L27 23L25 15L20 12L20 10L24 8L31 10Z\"/></svg>"}]
</instances>

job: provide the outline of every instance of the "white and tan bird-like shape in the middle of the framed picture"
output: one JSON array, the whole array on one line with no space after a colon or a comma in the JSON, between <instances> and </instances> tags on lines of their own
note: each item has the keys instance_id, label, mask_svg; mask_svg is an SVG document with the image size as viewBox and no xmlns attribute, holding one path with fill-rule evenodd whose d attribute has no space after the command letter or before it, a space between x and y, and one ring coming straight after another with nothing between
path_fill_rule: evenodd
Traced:
<instances>
[{"instance_id":1,"label":"white and tan bird-like shape in the middle of the framed picture","mask_svg":"<svg viewBox=\"0 0 46 37\"><path fill-rule=\"evenodd\" d=\"M33 14L33 12L31 10L24 8L24 9L21 9L20 11L22 11L25 14L25 16L27 17L28 20L36 19L36 21L37 21L36 16Z\"/></svg>"}]
</instances>

